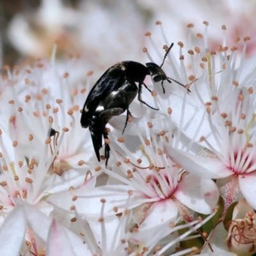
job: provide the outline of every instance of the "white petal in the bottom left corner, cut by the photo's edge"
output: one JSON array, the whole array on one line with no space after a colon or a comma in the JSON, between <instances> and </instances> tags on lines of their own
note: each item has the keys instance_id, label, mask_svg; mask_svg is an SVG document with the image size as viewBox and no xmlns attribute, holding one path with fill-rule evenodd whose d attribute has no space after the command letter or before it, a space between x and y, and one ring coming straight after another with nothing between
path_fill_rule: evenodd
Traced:
<instances>
[{"instance_id":1,"label":"white petal in the bottom left corner, cut by the photo's edge","mask_svg":"<svg viewBox=\"0 0 256 256\"><path fill-rule=\"evenodd\" d=\"M20 246L24 243L27 219L22 206L16 206L8 214L0 229L1 255L18 255Z\"/></svg>"}]
</instances>

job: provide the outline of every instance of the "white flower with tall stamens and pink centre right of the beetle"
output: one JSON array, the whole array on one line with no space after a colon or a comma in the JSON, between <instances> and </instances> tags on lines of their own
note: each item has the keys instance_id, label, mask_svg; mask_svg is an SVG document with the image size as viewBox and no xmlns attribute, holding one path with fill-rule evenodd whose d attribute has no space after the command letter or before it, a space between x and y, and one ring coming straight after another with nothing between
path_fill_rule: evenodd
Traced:
<instances>
[{"instance_id":1,"label":"white flower with tall stamens and pink centre right of the beetle","mask_svg":"<svg viewBox=\"0 0 256 256\"><path fill-rule=\"evenodd\" d=\"M244 62L246 44L250 38L244 38L243 56L237 70L236 44L231 47L228 55L224 38L223 45L216 49L217 55L216 52L208 52L206 34L198 35L198 38L200 47L189 45L190 49L195 47L195 52L190 50L188 55L192 75L186 77L183 57L180 67L175 65L177 81L183 84L188 84L189 79L193 81L190 95L182 93L181 90L173 90L168 99L164 99L163 93L157 93L156 96L162 108L162 115L166 115L164 113L167 113L167 109L172 108L171 117L178 127L175 145L179 145L181 133L191 140L183 150L166 147L166 154L173 162L199 177L228 177L217 182L221 195L227 202L226 210L228 205L241 197L240 189L246 200L255 208L256 201L252 191L255 190L256 166L253 150L256 130L253 113L256 72L255 64L248 68ZM179 45L180 54L183 56L183 44ZM175 61L172 60L171 63ZM200 156L194 155L198 154L198 151L189 153L195 143L207 148L200 152Z\"/></svg>"}]
</instances>

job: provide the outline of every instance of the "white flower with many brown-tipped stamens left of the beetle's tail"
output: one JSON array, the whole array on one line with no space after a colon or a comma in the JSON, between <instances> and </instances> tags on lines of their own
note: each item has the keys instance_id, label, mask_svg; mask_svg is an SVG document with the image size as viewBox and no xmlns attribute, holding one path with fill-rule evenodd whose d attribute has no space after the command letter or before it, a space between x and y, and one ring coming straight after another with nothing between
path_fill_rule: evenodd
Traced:
<instances>
[{"instance_id":1,"label":"white flower with many brown-tipped stamens left of the beetle's tail","mask_svg":"<svg viewBox=\"0 0 256 256\"><path fill-rule=\"evenodd\" d=\"M29 204L38 204L49 193L64 191L70 187L76 188L84 182L87 170L81 165L84 160L90 159L92 146L86 145L86 142L90 142L86 140L86 136L83 140L83 137L78 135L81 127L77 122L79 106L76 100L83 102L85 90L82 90L81 84L76 85L77 89L72 96L65 96L67 105L61 104L59 97L68 94L61 92L63 84L66 83L68 88L68 74L61 79L55 68L54 53L51 63L41 61L35 67L16 68L13 72L7 68L8 82L5 82L1 99L4 108L1 109L3 122L0 125L0 201L3 216L15 205L13 198L19 197ZM54 83L54 88L51 83ZM79 86L81 93L77 92ZM58 103L54 97L58 97ZM80 102L78 104L81 104ZM57 108L52 108L54 103L60 107L60 113ZM70 124L70 121L74 124ZM70 130L67 139L73 141L72 147L68 146L67 140L63 141L63 131L68 131L65 124ZM52 136L52 131L58 133ZM89 156L84 157L83 154L82 157L82 152L87 152ZM83 162L79 164L81 159ZM53 167L52 163L55 164L53 169L50 168ZM83 168L84 172L79 173L74 170L76 168ZM64 172L65 170L69 171ZM60 177L52 171L64 173ZM45 208L45 205L42 205L42 208Z\"/></svg>"}]
</instances>

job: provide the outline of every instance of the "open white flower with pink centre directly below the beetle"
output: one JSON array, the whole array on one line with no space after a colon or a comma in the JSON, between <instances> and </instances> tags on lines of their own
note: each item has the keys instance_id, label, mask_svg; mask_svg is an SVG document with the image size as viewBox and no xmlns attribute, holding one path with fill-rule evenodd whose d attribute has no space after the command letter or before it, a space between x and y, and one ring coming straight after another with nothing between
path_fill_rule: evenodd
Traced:
<instances>
[{"instance_id":1,"label":"open white flower with pink centre directly below the beetle","mask_svg":"<svg viewBox=\"0 0 256 256\"><path fill-rule=\"evenodd\" d=\"M109 136L111 141L122 141L116 140L112 132ZM143 148L132 154L122 142L118 143L130 158L123 159L111 146L111 154L119 161L112 167L112 171L97 167L98 172L101 169L111 177L112 182L109 185L92 188L90 186L92 182L88 181L84 188L49 196L47 202L66 211L69 211L70 204L74 204L79 214L90 217L99 214L98 198L103 197L106 199L106 216L113 216L115 214L113 207L116 206L118 206L116 213L122 212L124 205L127 204L128 209L134 209L133 220L141 225L141 228L157 228L166 220L175 220L178 211L184 219L193 221L193 215L187 207L204 214L211 213L216 207L219 193L214 182L179 172L179 168L173 166L159 149L160 143L157 145L154 141L158 150L147 143L145 150ZM132 163L138 164L135 165L136 168ZM121 184L116 184L115 179ZM95 180L95 177L92 180ZM132 191L129 203L126 202L128 191Z\"/></svg>"}]
</instances>

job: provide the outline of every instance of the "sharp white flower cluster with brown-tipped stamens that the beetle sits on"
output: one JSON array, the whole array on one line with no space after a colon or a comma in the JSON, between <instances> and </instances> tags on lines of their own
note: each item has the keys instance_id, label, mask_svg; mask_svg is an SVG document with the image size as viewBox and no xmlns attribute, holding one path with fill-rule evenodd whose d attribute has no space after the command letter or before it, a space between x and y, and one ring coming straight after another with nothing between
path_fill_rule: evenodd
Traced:
<instances>
[{"instance_id":1,"label":"sharp white flower cluster with brown-tipped stamens that the beetle sits on","mask_svg":"<svg viewBox=\"0 0 256 256\"><path fill-rule=\"evenodd\" d=\"M179 60L171 51L163 66L190 92L164 82L163 93L161 82L146 81L152 92L143 90L143 100L159 111L134 100L124 134L126 116L110 120L107 167L80 125L93 85L83 58L68 55L60 64L54 45L51 61L4 67L3 255L255 253L256 59L245 60L248 36L240 53L240 38L226 45L225 26L220 45L209 49L204 24L196 45L188 25L188 44L172 50ZM146 35L159 60L143 51L163 61Z\"/></svg>"}]
</instances>

